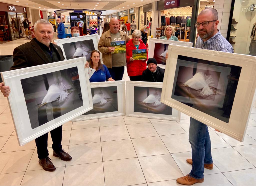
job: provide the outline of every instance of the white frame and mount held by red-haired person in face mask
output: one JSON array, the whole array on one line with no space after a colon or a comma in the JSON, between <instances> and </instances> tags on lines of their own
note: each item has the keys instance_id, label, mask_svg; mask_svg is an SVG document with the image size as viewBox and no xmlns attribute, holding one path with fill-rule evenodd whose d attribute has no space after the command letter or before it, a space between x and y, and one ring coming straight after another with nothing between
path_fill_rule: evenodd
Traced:
<instances>
[{"instance_id":1,"label":"white frame and mount held by red-haired person in face mask","mask_svg":"<svg viewBox=\"0 0 256 186\"><path fill-rule=\"evenodd\" d=\"M90 40L90 39L92 39L92 41L93 41L95 50L99 51L98 50L98 43L99 43L98 34L84 35L84 36L78 36L78 37L72 37L72 38L64 38L64 39L57 39L57 40L55 40L55 42L61 48L61 50L63 52L63 56L65 57L65 59L67 59L66 54L65 54L65 50L63 48L63 44L65 44L65 43L73 43L73 42L78 42L78 41L86 41L86 40ZM103 62L102 61L102 53L101 52L100 52L100 61L101 61L101 63Z\"/></svg>"}]
</instances>

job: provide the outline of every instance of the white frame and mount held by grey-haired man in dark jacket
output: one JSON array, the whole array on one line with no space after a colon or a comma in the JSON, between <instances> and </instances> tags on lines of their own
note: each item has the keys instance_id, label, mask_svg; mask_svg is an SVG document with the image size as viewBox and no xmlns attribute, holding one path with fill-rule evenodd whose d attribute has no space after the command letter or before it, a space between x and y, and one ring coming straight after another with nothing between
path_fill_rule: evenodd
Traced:
<instances>
[{"instance_id":1,"label":"white frame and mount held by grey-haired man in dark jacket","mask_svg":"<svg viewBox=\"0 0 256 186\"><path fill-rule=\"evenodd\" d=\"M36 139L41 135L61 126L63 123L66 123L73 118L93 109L88 69L84 68L85 64L86 57L80 57L55 63L1 72L5 86L10 86L11 89L10 95L7 99L20 146L25 145L29 141ZM53 119L44 125L32 129L20 80L72 67L78 68L79 79L81 82L83 82L80 84L83 97L83 106L61 115L61 117Z\"/></svg>"}]
</instances>

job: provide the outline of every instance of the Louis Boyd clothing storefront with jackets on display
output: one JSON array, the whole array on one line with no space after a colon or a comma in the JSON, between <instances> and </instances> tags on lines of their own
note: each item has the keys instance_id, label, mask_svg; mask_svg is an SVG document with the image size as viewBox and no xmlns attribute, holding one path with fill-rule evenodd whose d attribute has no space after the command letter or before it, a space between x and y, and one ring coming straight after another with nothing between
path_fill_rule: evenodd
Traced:
<instances>
[{"instance_id":1,"label":"Louis Boyd clothing storefront with jackets on display","mask_svg":"<svg viewBox=\"0 0 256 186\"><path fill-rule=\"evenodd\" d=\"M197 1L197 3L200 3ZM193 0L161 0L157 2L157 10L161 11L159 26L156 29L156 38L164 35L167 25L174 28L174 35L179 41L194 42L196 28L194 26L199 5ZM204 9L204 8L203 8Z\"/></svg>"}]
</instances>

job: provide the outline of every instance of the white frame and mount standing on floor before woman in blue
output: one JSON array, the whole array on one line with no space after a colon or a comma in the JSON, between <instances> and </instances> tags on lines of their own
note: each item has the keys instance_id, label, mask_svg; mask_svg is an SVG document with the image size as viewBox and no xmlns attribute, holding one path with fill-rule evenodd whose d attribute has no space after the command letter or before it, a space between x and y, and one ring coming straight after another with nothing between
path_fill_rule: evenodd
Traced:
<instances>
[{"instance_id":1,"label":"white frame and mount standing on floor before woman in blue","mask_svg":"<svg viewBox=\"0 0 256 186\"><path fill-rule=\"evenodd\" d=\"M84 120L89 120L89 119L99 119L99 118L107 118L107 117L115 117L115 116L124 116L125 115L125 81L124 80L90 83L91 88L109 87L109 86L117 86L118 111L81 115L81 116L78 116L78 117L74 118L72 120L72 122L74 122L74 121L84 121Z\"/></svg>"}]
</instances>

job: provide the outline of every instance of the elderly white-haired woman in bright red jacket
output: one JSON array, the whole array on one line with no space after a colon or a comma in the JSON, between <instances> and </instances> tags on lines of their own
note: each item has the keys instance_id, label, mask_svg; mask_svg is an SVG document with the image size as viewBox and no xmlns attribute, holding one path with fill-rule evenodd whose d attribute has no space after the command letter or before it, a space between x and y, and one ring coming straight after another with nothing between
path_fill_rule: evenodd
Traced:
<instances>
[{"instance_id":1,"label":"elderly white-haired woman in bright red jacket","mask_svg":"<svg viewBox=\"0 0 256 186\"><path fill-rule=\"evenodd\" d=\"M132 51L136 49L146 49L146 59L134 60L132 58ZM148 60L148 51L146 45L141 40L141 31L134 30L132 39L126 43L126 67L127 73L131 81L141 81L142 72L146 70Z\"/></svg>"}]
</instances>

